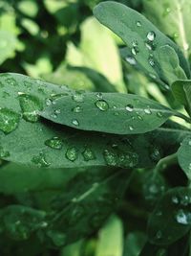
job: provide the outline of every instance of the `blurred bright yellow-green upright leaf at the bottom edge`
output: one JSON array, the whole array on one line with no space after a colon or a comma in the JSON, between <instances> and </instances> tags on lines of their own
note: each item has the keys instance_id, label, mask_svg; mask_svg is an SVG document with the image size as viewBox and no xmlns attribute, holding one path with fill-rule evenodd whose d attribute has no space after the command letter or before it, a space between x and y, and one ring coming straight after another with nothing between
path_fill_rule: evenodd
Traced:
<instances>
[{"instance_id":1,"label":"blurred bright yellow-green upright leaf at the bottom edge","mask_svg":"<svg viewBox=\"0 0 191 256\"><path fill-rule=\"evenodd\" d=\"M112 244L111 244L112 241ZM123 228L117 216L112 216L98 232L96 256L122 256Z\"/></svg>"}]
</instances>

